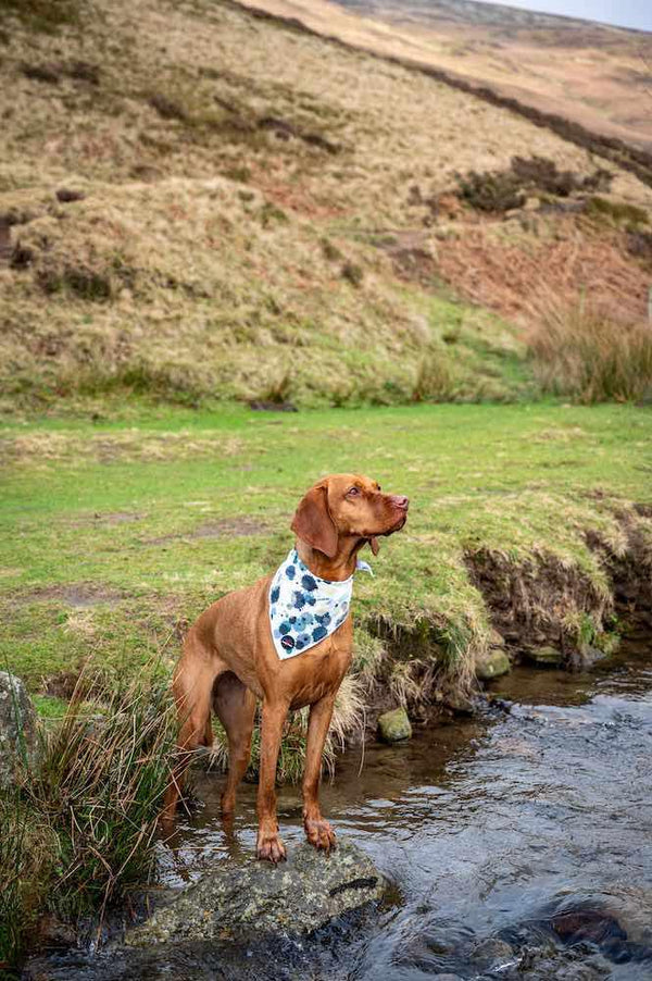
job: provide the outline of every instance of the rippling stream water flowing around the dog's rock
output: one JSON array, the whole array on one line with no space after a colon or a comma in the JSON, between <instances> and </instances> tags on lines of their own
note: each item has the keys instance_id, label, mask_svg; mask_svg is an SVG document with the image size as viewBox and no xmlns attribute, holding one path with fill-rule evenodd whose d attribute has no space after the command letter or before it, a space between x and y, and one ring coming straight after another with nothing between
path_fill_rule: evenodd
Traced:
<instances>
[{"instance_id":1,"label":"rippling stream water flowing around the dog's rock","mask_svg":"<svg viewBox=\"0 0 652 981\"><path fill-rule=\"evenodd\" d=\"M650 653L591 675L518 669L493 692L485 716L367 746L362 772L351 752L324 785L339 834L394 885L379 911L274 948L51 957L39 977L652 979ZM162 852L170 886L253 848L255 787L226 841L222 780L200 778L203 805L177 852ZM293 788L280 791L279 821L291 848Z\"/></svg>"}]
</instances>

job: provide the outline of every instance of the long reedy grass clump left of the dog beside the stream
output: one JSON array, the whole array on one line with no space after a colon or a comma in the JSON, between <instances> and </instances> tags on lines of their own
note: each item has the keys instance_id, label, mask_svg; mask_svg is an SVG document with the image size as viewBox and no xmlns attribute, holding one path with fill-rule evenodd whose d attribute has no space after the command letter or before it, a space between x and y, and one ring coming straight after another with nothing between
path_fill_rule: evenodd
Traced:
<instances>
[{"instance_id":1,"label":"long reedy grass clump left of the dog beside the stream","mask_svg":"<svg viewBox=\"0 0 652 981\"><path fill-rule=\"evenodd\" d=\"M87 672L63 718L40 723L39 752L0 800L0 958L16 963L38 914L101 922L147 882L175 731L151 670L110 686Z\"/></svg>"}]
</instances>

